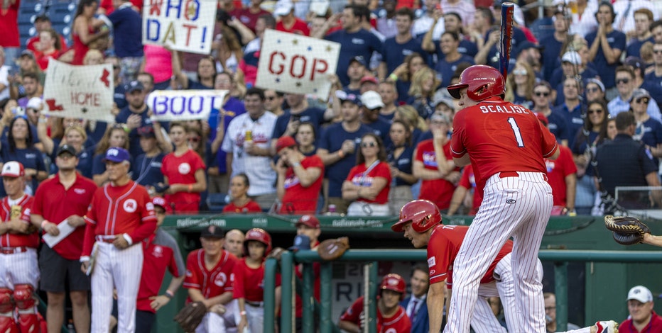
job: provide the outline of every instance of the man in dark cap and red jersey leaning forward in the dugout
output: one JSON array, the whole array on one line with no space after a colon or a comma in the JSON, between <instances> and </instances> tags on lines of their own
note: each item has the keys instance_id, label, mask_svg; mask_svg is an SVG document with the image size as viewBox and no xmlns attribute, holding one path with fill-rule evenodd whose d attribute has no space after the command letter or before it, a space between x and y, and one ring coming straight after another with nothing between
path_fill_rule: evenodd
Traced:
<instances>
[{"instance_id":1,"label":"man in dark cap and red jersey leaning forward in the dugout","mask_svg":"<svg viewBox=\"0 0 662 333\"><path fill-rule=\"evenodd\" d=\"M187 302L200 301L207 307L207 315L196 333L225 333L237 327L237 301L234 291L234 266L237 257L223 249L224 233L220 227L210 225L200 235L202 249L188 254L184 288L188 288ZM235 329L236 332L236 329Z\"/></svg>"}]
</instances>

